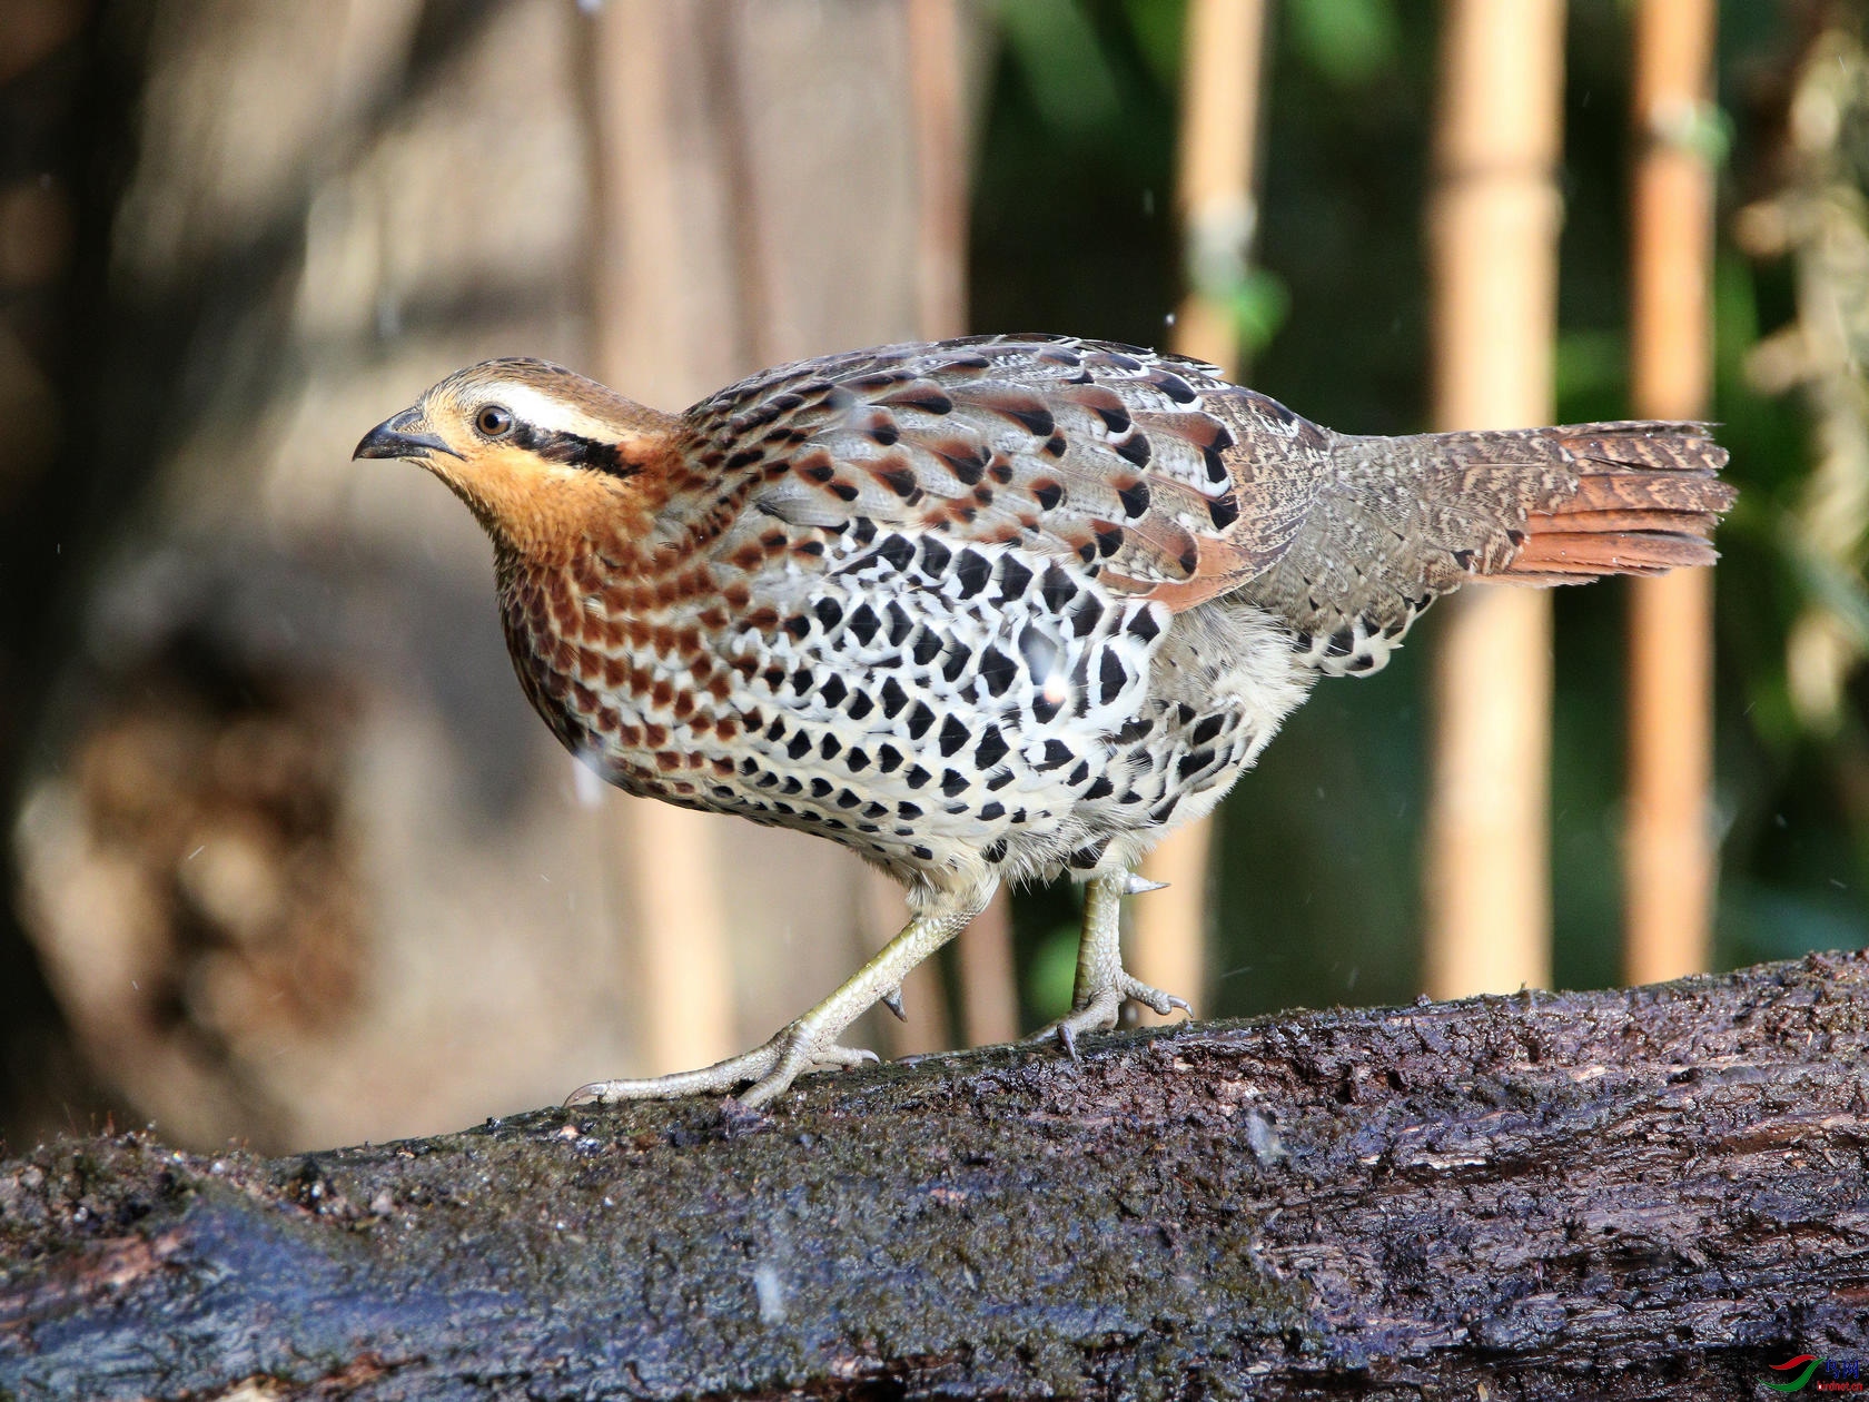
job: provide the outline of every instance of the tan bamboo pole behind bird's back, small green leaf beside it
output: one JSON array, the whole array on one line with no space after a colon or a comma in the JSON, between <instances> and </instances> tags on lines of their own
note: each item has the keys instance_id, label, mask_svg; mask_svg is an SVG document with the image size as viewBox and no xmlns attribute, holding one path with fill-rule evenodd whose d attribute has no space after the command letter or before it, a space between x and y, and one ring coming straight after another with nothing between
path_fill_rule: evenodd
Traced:
<instances>
[{"instance_id":1,"label":"tan bamboo pole behind bird's back, small green leaf beside it","mask_svg":"<svg viewBox=\"0 0 1869 1402\"><path fill-rule=\"evenodd\" d=\"M1263 0L1192 0L1183 41L1181 150L1176 206L1194 265L1237 262L1245 269L1258 224L1260 73L1265 45ZM1232 308L1196 286L1176 312L1174 350L1239 374L1239 335ZM1189 823L1142 864L1168 890L1131 910L1131 968L1144 983L1200 1006L1206 993L1207 856L1213 819ZM1144 1009L1146 1023L1163 1021Z\"/></svg>"}]
</instances>

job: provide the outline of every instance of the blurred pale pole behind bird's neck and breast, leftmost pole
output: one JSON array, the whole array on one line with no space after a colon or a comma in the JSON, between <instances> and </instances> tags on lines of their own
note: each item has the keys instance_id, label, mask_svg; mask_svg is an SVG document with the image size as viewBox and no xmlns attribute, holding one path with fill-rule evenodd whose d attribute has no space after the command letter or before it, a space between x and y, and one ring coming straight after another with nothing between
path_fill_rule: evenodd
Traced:
<instances>
[{"instance_id":1,"label":"blurred pale pole behind bird's neck and breast, leftmost pole","mask_svg":"<svg viewBox=\"0 0 1869 1402\"><path fill-rule=\"evenodd\" d=\"M596 370L649 404L680 404L695 374L693 325L678 271L680 224L671 142L669 54L680 17L656 0L622 0L596 26ZM733 961L714 828L647 798L611 804L635 912L630 1011L654 1073L733 1051Z\"/></svg>"}]
</instances>

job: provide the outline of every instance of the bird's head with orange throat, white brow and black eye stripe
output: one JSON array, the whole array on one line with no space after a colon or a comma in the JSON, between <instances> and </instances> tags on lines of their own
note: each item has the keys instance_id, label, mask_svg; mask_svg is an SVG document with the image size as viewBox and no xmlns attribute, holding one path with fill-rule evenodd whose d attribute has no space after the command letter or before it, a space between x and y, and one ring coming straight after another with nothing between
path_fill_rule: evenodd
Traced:
<instances>
[{"instance_id":1,"label":"bird's head with orange throat, white brow and black eye stripe","mask_svg":"<svg viewBox=\"0 0 1869 1402\"><path fill-rule=\"evenodd\" d=\"M379 422L351 456L421 464L497 548L553 563L649 529L678 434L673 415L557 365L484 361Z\"/></svg>"}]
</instances>

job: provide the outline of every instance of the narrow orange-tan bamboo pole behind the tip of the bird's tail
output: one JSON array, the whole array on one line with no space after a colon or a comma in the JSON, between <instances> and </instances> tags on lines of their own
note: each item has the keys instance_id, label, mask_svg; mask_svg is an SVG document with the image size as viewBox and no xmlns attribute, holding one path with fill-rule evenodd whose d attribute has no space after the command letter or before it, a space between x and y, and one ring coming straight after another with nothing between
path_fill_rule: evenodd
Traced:
<instances>
[{"instance_id":1,"label":"narrow orange-tan bamboo pole behind the tip of the bird's tail","mask_svg":"<svg viewBox=\"0 0 1869 1402\"><path fill-rule=\"evenodd\" d=\"M1714 0L1635 7L1635 411L1697 419L1712 376L1714 166L1695 133L1712 101ZM1712 948L1710 570L1632 581L1624 974L1705 970Z\"/></svg>"}]
</instances>

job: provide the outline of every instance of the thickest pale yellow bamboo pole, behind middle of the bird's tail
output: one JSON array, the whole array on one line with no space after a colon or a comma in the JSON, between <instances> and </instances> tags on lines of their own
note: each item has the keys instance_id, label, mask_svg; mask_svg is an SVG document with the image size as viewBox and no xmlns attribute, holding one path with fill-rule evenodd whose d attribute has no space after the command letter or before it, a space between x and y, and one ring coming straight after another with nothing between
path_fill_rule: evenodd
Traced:
<instances>
[{"instance_id":1,"label":"thickest pale yellow bamboo pole, behind middle of the bird's tail","mask_svg":"<svg viewBox=\"0 0 1869 1402\"><path fill-rule=\"evenodd\" d=\"M1435 424L1549 422L1564 7L1448 0L1428 236ZM1551 602L1467 589L1435 658L1424 985L1548 985Z\"/></svg>"}]
</instances>

